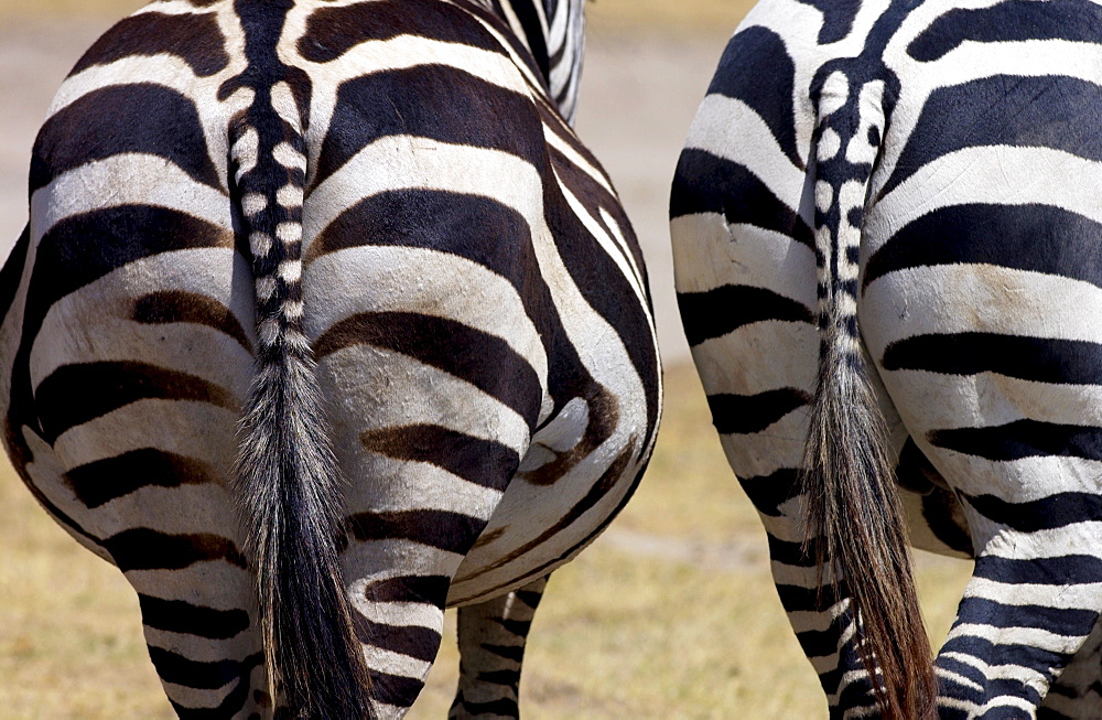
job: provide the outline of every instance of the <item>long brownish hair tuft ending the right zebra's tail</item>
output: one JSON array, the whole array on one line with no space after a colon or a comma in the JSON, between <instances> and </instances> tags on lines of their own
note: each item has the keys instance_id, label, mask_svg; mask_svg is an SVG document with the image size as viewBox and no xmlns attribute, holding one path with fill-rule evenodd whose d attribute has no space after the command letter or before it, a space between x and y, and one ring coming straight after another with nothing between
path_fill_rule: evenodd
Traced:
<instances>
[{"instance_id":1,"label":"long brownish hair tuft ending the right zebra's tail","mask_svg":"<svg viewBox=\"0 0 1102 720\"><path fill-rule=\"evenodd\" d=\"M804 455L809 537L820 571L830 566L845 583L857 652L874 681L883 717L928 717L937 696L930 644L922 625L908 552L903 506L888 461L876 398L852 355L830 337L820 359ZM860 358L856 358L860 361ZM820 588L822 580L820 580Z\"/></svg>"}]
</instances>

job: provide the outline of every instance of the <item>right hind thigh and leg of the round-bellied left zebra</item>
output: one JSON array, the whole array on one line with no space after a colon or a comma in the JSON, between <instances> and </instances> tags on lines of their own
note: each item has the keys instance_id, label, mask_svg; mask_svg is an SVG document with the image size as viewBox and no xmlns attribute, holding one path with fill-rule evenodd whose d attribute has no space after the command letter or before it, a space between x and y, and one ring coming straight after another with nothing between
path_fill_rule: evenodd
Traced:
<instances>
[{"instance_id":1,"label":"right hind thigh and leg of the round-bellied left zebra","mask_svg":"<svg viewBox=\"0 0 1102 720\"><path fill-rule=\"evenodd\" d=\"M402 716L420 692L451 580L512 479L543 395L525 357L539 337L514 287L415 247L419 237L315 249L303 277L349 483L344 577L380 717Z\"/></svg>"}]
</instances>

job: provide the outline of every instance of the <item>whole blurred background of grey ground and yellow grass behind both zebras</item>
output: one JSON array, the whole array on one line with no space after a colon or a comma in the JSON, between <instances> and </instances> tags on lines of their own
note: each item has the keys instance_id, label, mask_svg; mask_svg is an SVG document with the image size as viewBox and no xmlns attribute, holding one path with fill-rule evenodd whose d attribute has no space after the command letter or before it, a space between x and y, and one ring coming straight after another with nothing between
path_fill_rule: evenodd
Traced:
<instances>
[{"instance_id":1,"label":"whole blurred background of grey ground and yellow grass behind both zebras","mask_svg":"<svg viewBox=\"0 0 1102 720\"><path fill-rule=\"evenodd\" d=\"M0 0L0 257L26 221L31 144L84 50L140 0ZM555 572L526 655L527 720L821 719L825 701L780 609L765 534L732 475L673 295L669 183L720 53L752 2L595 0L577 131L644 246L667 413L625 513ZM172 718L122 576L48 520L0 460L0 716ZM934 642L970 566L919 552ZM410 713L446 717L454 613Z\"/></svg>"}]
</instances>

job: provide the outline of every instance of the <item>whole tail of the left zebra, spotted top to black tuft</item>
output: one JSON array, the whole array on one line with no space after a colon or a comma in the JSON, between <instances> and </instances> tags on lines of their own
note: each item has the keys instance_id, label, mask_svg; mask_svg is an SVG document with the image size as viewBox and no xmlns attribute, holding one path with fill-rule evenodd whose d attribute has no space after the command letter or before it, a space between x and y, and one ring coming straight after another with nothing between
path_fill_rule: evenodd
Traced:
<instances>
[{"instance_id":1,"label":"whole tail of the left zebra, spotted top to black tuft","mask_svg":"<svg viewBox=\"0 0 1102 720\"><path fill-rule=\"evenodd\" d=\"M256 109L266 105L267 111ZM255 563L269 687L290 717L363 720L374 714L337 554L342 481L303 329L302 132L257 101L231 140L258 335L236 492Z\"/></svg>"}]
</instances>

